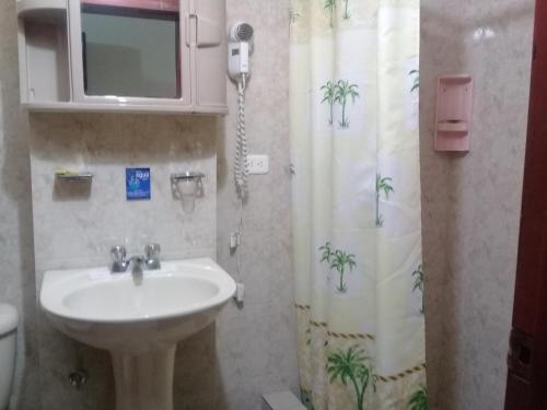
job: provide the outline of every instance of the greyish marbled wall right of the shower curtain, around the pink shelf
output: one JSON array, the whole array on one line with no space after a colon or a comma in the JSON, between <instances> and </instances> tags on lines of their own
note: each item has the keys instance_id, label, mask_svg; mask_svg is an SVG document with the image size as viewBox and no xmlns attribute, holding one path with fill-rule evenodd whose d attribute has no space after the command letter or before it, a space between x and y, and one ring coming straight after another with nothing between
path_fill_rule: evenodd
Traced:
<instances>
[{"instance_id":1,"label":"greyish marbled wall right of the shower curtain, around the pink shelf","mask_svg":"<svg viewBox=\"0 0 547 410\"><path fill-rule=\"evenodd\" d=\"M503 408L534 1L421 1L428 384L439 410ZM472 151L434 153L435 79L475 79Z\"/></svg>"}]
</instances>

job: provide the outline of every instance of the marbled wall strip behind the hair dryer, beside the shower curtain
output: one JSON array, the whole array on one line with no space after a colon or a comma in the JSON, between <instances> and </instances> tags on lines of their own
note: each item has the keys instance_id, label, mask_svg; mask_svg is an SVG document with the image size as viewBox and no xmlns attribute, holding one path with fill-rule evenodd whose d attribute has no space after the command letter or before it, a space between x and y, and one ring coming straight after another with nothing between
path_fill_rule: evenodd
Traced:
<instances>
[{"instance_id":1,"label":"marbled wall strip behind the hair dryer, beside the shower curtain","mask_svg":"<svg viewBox=\"0 0 547 410\"><path fill-rule=\"evenodd\" d=\"M291 259L291 188L289 155L289 1L228 0L229 22L255 28L253 77L246 97L251 153L270 156L268 175L249 176L244 209L241 279L245 307L230 306L224 324L237 323L221 358L223 383L233 409L260 409L260 395L281 388L298 389L294 295ZM231 113L236 110L235 86L229 85ZM236 271L229 253L229 235L237 226L234 191L235 124L225 121L218 141L218 261Z\"/></svg>"}]
</instances>

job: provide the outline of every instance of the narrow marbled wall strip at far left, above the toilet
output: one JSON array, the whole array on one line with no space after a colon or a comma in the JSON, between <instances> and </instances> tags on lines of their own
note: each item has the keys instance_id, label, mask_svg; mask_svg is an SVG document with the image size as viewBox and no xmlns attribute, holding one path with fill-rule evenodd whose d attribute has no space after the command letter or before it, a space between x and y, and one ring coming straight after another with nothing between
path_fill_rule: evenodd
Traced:
<instances>
[{"instance_id":1,"label":"narrow marbled wall strip at far left, above the toilet","mask_svg":"<svg viewBox=\"0 0 547 410\"><path fill-rule=\"evenodd\" d=\"M18 307L13 408L36 409L35 283L28 124L19 107L15 1L0 2L0 303Z\"/></svg>"}]
</instances>

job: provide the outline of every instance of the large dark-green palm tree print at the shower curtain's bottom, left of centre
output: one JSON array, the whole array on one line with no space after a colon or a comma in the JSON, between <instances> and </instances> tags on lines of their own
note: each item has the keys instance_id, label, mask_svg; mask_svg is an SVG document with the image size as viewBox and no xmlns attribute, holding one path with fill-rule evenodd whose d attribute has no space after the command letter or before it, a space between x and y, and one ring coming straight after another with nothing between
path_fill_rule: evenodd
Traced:
<instances>
[{"instance_id":1,"label":"large dark-green palm tree print at the shower curtain's bottom, left of centre","mask_svg":"<svg viewBox=\"0 0 547 410\"><path fill-rule=\"evenodd\" d=\"M330 352L327 359L327 373L330 383L341 382L345 387L353 390L357 399L357 410L364 410L364 394L371 384L373 388L375 378L368 364L369 358L364 350L351 347L348 350Z\"/></svg>"}]
</instances>

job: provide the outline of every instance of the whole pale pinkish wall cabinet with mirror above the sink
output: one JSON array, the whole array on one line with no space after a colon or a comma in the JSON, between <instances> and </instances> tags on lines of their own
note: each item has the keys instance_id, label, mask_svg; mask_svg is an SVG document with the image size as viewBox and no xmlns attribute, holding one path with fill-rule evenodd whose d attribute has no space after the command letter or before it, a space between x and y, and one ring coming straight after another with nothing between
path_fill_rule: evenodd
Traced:
<instances>
[{"instance_id":1,"label":"whole pale pinkish wall cabinet with mirror above the sink","mask_svg":"<svg viewBox=\"0 0 547 410\"><path fill-rule=\"evenodd\" d=\"M30 110L226 114L225 0L18 0Z\"/></svg>"}]
</instances>

